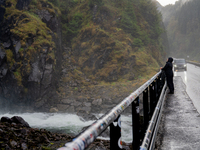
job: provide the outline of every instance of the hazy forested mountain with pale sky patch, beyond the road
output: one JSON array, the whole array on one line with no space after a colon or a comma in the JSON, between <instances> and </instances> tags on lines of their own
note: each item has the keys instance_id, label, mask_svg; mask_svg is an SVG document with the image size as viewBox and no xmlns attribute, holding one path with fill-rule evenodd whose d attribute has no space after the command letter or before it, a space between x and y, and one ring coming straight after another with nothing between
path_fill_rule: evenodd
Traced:
<instances>
[{"instance_id":1,"label":"hazy forested mountain with pale sky patch, beyond the road","mask_svg":"<svg viewBox=\"0 0 200 150\"><path fill-rule=\"evenodd\" d=\"M200 61L200 1L179 0L161 9L171 54Z\"/></svg>"}]
</instances>

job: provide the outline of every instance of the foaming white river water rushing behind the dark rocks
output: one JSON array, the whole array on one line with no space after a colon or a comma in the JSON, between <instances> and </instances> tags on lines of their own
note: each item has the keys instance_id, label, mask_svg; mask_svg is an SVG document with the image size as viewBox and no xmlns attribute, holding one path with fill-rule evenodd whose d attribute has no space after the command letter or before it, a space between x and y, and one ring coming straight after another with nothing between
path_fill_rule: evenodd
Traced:
<instances>
[{"instance_id":1,"label":"foaming white river water rushing behind the dark rocks","mask_svg":"<svg viewBox=\"0 0 200 150\"><path fill-rule=\"evenodd\" d=\"M101 114L103 115L103 114ZM22 114L1 114L0 118L20 116L22 117L30 127L32 128L43 128L49 131L56 131L61 133L68 133L77 135L83 127L91 125L95 120L83 122L75 114L64 114L64 113L22 113ZM97 116L100 117L100 116ZM122 116L122 141L132 141L132 126L131 116ZM103 139L109 139L103 138Z\"/></svg>"}]
</instances>

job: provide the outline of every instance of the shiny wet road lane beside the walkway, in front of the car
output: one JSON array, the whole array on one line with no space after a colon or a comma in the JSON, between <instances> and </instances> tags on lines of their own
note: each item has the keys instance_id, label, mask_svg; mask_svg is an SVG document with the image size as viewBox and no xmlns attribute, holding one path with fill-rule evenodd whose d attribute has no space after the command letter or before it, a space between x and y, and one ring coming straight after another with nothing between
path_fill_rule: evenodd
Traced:
<instances>
[{"instance_id":1,"label":"shiny wet road lane beside the walkway, in front of the car","mask_svg":"<svg viewBox=\"0 0 200 150\"><path fill-rule=\"evenodd\" d=\"M180 76L186 85L186 92L200 113L200 67L187 64L187 71L174 71L174 76Z\"/></svg>"}]
</instances>

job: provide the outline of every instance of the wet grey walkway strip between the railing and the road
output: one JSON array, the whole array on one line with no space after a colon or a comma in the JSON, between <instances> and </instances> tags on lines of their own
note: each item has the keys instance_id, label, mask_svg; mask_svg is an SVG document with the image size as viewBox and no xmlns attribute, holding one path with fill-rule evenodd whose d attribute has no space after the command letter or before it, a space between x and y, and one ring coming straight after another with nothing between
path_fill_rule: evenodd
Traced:
<instances>
[{"instance_id":1,"label":"wet grey walkway strip between the railing and the road","mask_svg":"<svg viewBox=\"0 0 200 150\"><path fill-rule=\"evenodd\" d=\"M160 150L200 149L200 115L186 93L180 77L174 78L175 93L167 95L158 132ZM159 144L160 143L160 144Z\"/></svg>"}]
</instances>

